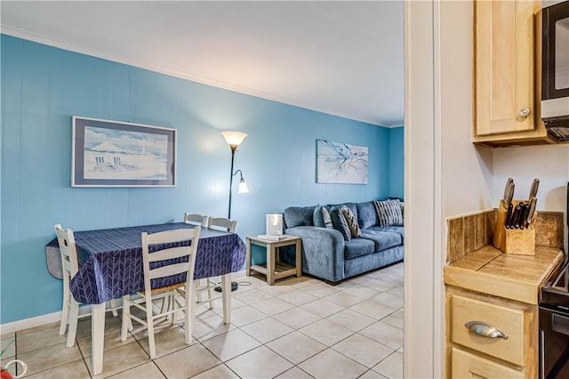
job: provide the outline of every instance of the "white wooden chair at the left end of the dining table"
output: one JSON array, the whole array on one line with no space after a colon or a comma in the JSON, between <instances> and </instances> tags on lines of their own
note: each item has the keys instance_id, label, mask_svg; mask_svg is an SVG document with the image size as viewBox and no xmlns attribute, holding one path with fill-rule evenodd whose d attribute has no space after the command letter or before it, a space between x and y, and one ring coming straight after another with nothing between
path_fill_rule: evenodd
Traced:
<instances>
[{"instance_id":1,"label":"white wooden chair at the left end of the dining table","mask_svg":"<svg viewBox=\"0 0 569 379\"><path fill-rule=\"evenodd\" d=\"M89 316L90 313L79 316L80 303L75 300L73 294L71 294L71 288L69 287L71 278L73 278L79 270L73 230L64 230L59 223L55 224L54 228L57 234L57 240L60 244L61 269L63 270L63 304L61 306L60 335L65 335L65 331L69 325L66 346L70 348L75 344L78 319ZM110 308L108 308L108 310L112 310L114 316L118 315L116 310L119 308L120 307L116 307L114 299L110 301ZM100 330L96 333L104 333L104 331Z\"/></svg>"}]
</instances>

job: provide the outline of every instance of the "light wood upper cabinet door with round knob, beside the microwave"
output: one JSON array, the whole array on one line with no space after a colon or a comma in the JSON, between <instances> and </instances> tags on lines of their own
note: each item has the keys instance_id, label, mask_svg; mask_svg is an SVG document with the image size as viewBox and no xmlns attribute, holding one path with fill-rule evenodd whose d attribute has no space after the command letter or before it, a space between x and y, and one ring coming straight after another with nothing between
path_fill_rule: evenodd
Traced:
<instances>
[{"instance_id":1,"label":"light wood upper cabinet door with round knob, beside the microwave","mask_svg":"<svg viewBox=\"0 0 569 379\"><path fill-rule=\"evenodd\" d=\"M474 6L476 133L531 131L535 128L535 5L533 1L482 0Z\"/></svg>"}]
</instances>

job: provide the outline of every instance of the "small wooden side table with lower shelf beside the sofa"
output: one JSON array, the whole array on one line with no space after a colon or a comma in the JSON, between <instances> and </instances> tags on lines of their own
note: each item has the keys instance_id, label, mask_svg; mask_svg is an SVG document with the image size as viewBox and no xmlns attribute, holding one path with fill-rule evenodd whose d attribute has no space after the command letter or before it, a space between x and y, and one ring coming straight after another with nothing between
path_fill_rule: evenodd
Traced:
<instances>
[{"instance_id":1,"label":"small wooden side table with lower shelf beside the sofa","mask_svg":"<svg viewBox=\"0 0 569 379\"><path fill-rule=\"evenodd\" d=\"M302 275L302 260L301 260L301 240L300 237L295 236L284 236L283 239L279 241L271 241L268 239L257 238L257 236L249 236L247 239L247 276L251 275L251 270L260 272L267 276L267 283L269 286L275 284L276 279L291 277L296 275L297 278L301 278ZM267 264L253 264L251 265L251 246L265 246L267 249ZM278 249L283 246L296 246L296 265L291 266L290 264L280 261L278 254Z\"/></svg>"}]
</instances>

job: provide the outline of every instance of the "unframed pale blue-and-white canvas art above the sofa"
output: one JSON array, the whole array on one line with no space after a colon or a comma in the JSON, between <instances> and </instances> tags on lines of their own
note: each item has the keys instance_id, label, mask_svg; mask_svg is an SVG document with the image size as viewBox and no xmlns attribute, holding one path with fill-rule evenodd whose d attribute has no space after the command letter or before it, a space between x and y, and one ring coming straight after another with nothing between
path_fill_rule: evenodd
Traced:
<instances>
[{"instance_id":1,"label":"unframed pale blue-and-white canvas art above the sofa","mask_svg":"<svg viewBox=\"0 0 569 379\"><path fill-rule=\"evenodd\" d=\"M317 182L367 184L367 147L317 140Z\"/></svg>"}]
</instances>

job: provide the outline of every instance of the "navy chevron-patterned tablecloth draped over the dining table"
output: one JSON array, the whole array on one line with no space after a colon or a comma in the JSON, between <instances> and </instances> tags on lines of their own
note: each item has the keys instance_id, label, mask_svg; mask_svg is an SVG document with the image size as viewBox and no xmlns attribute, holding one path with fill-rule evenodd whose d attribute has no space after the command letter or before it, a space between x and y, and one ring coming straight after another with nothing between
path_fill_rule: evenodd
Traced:
<instances>
[{"instance_id":1,"label":"navy chevron-patterned tablecloth draped over the dining table","mask_svg":"<svg viewBox=\"0 0 569 379\"><path fill-rule=\"evenodd\" d=\"M71 279L71 292L77 302L98 304L144 289L142 232L194 228L183 222L108 230L76 231L79 271ZM186 241L185 244L188 244ZM184 242L173 246L183 246ZM155 249L165 246L154 246ZM58 248L57 238L46 251ZM151 249L152 251L152 249ZM241 270L245 260L243 240L234 233L202 228L197 245L194 278L210 278ZM158 265L170 262L156 262ZM48 261L49 264L49 261ZM50 270L52 272L53 269ZM158 278L152 286L180 283L186 274Z\"/></svg>"}]
</instances>

